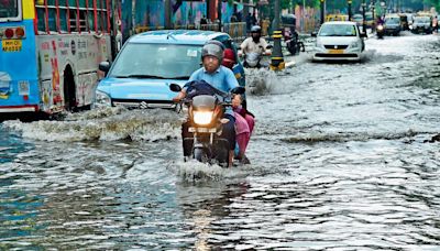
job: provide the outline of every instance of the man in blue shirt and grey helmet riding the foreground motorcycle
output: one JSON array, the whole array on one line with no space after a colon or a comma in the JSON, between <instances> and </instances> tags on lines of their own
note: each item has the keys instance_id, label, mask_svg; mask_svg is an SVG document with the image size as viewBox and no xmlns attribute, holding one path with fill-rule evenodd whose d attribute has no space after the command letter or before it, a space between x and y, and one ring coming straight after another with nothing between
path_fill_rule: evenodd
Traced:
<instances>
[{"instance_id":1,"label":"man in blue shirt and grey helmet riding the foreground motorcycle","mask_svg":"<svg viewBox=\"0 0 440 251\"><path fill-rule=\"evenodd\" d=\"M224 46L219 41L207 42L201 50L202 67L194 72L189 78L189 81L205 80L216 89L224 92L229 92L235 87L239 87L239 83L231 69L221 65L223 59ZM174 101L178 102L187 96L187 89L184 87L182 91L174 98ZM221 138L228 140L229 160L228 165L232 166L234 149L235 149L235 118L231 107L227 107L224 111L222 123ZM183 139L191 138L193 133L188 131L190 124L185 122L182 127ZM185 141L184 144L184 156L189 157L191 155L193 142Z\"/></svg>"}]
</instances>

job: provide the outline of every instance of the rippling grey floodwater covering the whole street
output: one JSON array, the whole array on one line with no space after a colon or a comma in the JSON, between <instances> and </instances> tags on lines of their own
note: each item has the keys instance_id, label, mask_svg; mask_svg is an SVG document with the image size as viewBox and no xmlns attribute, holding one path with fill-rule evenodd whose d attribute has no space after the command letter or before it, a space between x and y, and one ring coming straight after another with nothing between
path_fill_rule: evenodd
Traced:
<instances>
[{"instance_id":1,"label":"rippling grey floodwater covering the whole street","mask_svg":"<svg viewBox=\"0 0 440 251\"><path fill-rule=\"evenodd\" d=\"M438 250L439 37L248 72L248 166L184 163L170 111L6 121L0 249Z\"/></svg>"}]
</instances>

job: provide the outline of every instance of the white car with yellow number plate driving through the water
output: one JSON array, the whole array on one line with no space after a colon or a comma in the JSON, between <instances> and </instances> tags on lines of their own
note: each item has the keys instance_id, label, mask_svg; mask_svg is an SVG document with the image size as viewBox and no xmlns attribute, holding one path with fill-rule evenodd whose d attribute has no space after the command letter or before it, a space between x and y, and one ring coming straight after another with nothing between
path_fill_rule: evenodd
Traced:
<instances>
[{"instance_id":1,"label":"white car with yellow number plate driving through the water","mask_svg":"<svg viewBox=\"0 0 440 251\"><path fill-rule=\"evenodd\" d=\"M363 41L365 33L361 33L355 22L326 22L319 29L314 61L361 61L365 50Z\"/></svg>"}]
</instances>

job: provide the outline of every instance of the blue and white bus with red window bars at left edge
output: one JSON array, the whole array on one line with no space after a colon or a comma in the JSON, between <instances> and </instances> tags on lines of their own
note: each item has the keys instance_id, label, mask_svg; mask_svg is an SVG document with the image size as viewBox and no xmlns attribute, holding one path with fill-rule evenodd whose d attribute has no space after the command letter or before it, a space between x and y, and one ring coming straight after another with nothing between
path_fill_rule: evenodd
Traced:
<instances>
[{"instance_id":1,"label":"blue and white bus with red window bars at left edge","mask_svg":"<svg viewBox=\"0 0 440 251\"><path fill-rule=\"evenodd\" d=\"M0 116L89 107L98 65L112 57L117 8L112 0L0 0Z\"/></svg>"}]
</instances>

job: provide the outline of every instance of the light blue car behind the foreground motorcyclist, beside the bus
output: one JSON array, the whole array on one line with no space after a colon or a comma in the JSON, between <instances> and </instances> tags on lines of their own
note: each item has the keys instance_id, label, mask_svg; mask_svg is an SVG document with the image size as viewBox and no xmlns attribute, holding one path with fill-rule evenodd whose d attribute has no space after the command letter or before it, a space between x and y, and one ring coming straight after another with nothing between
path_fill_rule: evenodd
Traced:
<instances>
[{"instance_id":1,"label":"light blue car behind the foreground motorcyclist, beside the bus","mask_svg":"<svg viewBox=\"0 0 440 251\"><path fill-rule=\"evenodd\" d=\"M151 31L125 42L113 64L102 62L106 72L96 91L97 106L127 108L174 108L176 92L170 84L184 86L201 67L201 47L217 40L232 48L237 46L227 33L194 30ZM244 69L240 62L233 72L244 86Z\"/></svg>"}]
</instances>

